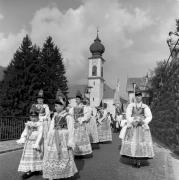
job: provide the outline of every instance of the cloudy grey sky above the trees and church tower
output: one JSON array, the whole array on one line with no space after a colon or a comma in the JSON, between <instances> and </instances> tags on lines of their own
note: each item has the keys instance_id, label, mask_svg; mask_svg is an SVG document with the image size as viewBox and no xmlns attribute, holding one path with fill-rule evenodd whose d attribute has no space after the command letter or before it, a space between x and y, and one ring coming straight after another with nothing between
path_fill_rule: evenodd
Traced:
<instances>
[{"instance_id":1,"label":"cloudy grey sky above the trees and church tower","mask_svg":"<svg viewBox=\"0 0 179 180\"><path fill-rule=\"evenodd\" d=\"M105 83L143 77L169 57L166 38L175 31L179 0L0 0L0 65L6 67L28 34L42 47L52 36L64 58L69 84L87 83L90 45L105 46Z\"/></svg>"}]
</instances>

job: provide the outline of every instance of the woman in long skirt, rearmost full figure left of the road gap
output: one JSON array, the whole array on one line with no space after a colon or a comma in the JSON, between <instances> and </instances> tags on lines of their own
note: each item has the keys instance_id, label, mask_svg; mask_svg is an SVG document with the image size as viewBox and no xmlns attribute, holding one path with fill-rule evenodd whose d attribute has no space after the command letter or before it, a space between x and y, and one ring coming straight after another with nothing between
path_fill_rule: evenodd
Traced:
<instances>
[{"instance_id":1,"label":"woman in long skirt, rearmost full figure left of the road gap","mask_svg":"<svg viewBox=\"0 0 179 180\"><path fill-rule=\"evenodd\" d=\"M99 142L112 141L110 116L107 113L107 104L102 102L97 111L98 138Z\"/></svg>"}]
</instances>

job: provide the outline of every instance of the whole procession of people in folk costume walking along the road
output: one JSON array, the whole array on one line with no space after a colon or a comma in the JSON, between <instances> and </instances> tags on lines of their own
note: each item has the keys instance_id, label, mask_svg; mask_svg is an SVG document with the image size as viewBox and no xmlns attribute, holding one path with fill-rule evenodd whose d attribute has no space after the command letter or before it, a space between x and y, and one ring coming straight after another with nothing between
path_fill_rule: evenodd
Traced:
<instances>
[{"instance_id":1,"label":"whole procession of people in folk costume walking along the road","mask_svg":"<svg viewBox=\"0 0 179 180\"><path fill-rule=\"evenodd\" d=\"M40 90L37 103L30 108L29 121L17 140L18 144L24 144L18 167L19 172L24 172L23 179L37 173L50 180L74 176L78 172L74 159L92 157L93 144L112 142L111 127L119 129L116 133L121 143L120 154L132 159L132 165L139 168L141 160L154 157L148 125L152 114L142 102L140 89L136 89L135 102L127 109L120 102L115 104L114 117L107 111L106 103L101 101L98 107L91 107L90 100L83 98L80 91L76 93L76 105L71 107L59 89L51 118L44 98Z\"/></svg>"}]
</instances>

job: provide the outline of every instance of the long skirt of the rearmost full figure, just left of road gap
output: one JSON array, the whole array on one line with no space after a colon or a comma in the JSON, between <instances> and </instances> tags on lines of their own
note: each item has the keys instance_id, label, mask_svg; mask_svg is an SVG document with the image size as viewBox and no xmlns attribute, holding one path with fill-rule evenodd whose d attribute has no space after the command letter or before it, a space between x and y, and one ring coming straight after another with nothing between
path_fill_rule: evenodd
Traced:
<instances>
[{"instance_id":1,"label":"long skirt of the rearmost full figure, just left of road gap","mask_svg":"<svg viewBox=\"0 0 179 180\"><path fill-rule=\"evenodd\" d=\"M99 142L112 141L111 126L108 119L104 119L101 124L98 125L98 138Z\"/></svg>"}]
</instances>

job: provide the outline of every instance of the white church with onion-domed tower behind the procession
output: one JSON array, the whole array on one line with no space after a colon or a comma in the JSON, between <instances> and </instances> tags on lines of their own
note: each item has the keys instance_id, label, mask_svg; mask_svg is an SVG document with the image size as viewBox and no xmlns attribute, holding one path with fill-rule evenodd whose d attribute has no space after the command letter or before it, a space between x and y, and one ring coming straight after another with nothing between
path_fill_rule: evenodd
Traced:
<instances>
[{"instance_id":1,"label":"white church with onion-domed tower behind the procession","mask_svg":"<svg viewBox=\"0 0 179 180\"><path fill-rule=\"evenodd\" d=\"M75 105L76 92L79 90L83 97L90 99L90 105L92 107L99 106L102 100L102 102L107 103L108 111L113 114L115 111L113 105L115 90L105 83L103 67L106 60L102 56L105 52L105 47L101 43L98 33L89 49L91 57L88 58L88 84L69 87L68 97L70 104L72 106ZM121 102L126 103L127 100L121 97Z\"/></svg>"}]
</instances>

